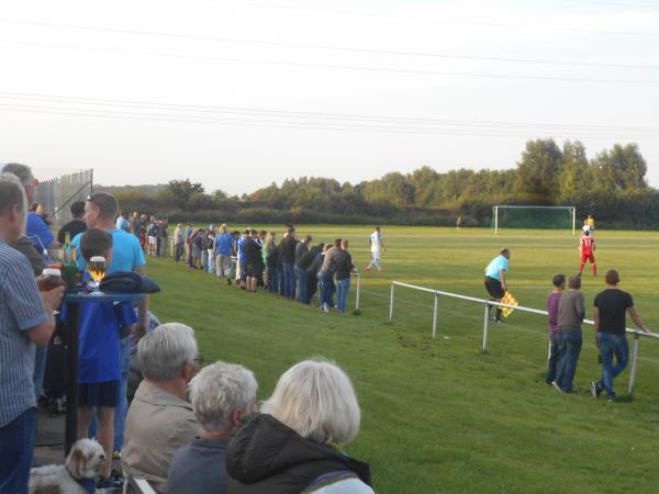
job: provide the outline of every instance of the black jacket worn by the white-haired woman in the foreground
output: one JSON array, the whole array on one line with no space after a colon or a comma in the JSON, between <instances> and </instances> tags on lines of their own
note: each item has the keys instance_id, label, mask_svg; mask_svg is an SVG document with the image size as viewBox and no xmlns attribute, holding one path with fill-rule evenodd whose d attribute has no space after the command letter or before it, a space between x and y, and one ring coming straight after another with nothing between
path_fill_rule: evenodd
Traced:
<instances>
[{"instance_id":1,"label":"black jacket worn by the white-haired woman in the foreground","mask_svg":"<svg viewBox=\"0 0 659 494\"><path fill-rule=\"evenodd\" d=\"M321 475L339 471L371 485L368 463L304 439L266 414L243 418L226 449L228 494L300 494Z\"/></svg>"}]
</instances>

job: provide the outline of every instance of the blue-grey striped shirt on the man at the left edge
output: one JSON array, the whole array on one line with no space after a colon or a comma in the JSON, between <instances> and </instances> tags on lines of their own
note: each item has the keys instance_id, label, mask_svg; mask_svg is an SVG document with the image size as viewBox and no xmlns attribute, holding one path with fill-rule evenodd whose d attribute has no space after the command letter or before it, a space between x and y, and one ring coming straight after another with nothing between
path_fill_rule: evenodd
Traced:
<instances>
[{"instance_id":1,"label":"blue-grey striped shirt on the man at the left edge","mask_svg":"<svg viewBox=\"0 0 659 494\"><path fill-rule=\"evenodd\" d=\"M0 427L35 406L26 332L47 319L27 258L0 239Z\"/></svg>"}]
</instances>

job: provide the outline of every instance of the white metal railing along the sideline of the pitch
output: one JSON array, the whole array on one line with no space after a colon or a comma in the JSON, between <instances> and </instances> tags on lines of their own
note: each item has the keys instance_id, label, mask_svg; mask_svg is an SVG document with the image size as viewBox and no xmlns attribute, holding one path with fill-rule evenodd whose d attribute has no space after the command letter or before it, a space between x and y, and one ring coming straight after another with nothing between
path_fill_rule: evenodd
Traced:
<instances>
[{"instance_id":1,"label":"white metal railing along the sideline of the pitch","mask_svg":"<svg viewBox=\"0 0 659 494\"><path fill-rule=\"evenodd\" d=\"M440 290L433 290L433 289L425 288L425 287L418 287L416 284L403 283L400 281L392 281L391 282L391 297L389 301L389 321L390 322L393 321L393 305L394 305L393 302L394 302L395 287L416 290L420 292L432 293L435 295L435 308L433 312L433 338L435 338L437 336L437 317L438 317L438 313L439 313L439 296L447 296L450 299L458 299L458 300L463 300L467 302L474 302L474 303L483 304L485 306L485 314L483 317L483 352L488 351L488 338L489 338L489 333L490 333L490 317L489 317L490 305L500 306L500 307L510 307L510 308L514 308L515 311L527 312L530 314L538 314L538 315L543 315L543 316L549 315L547 311L540 311L538 308L525 307L523 305L502 304L501 302L492 302L492 301L485 300L485 299L477 299L474 296L460 295L458 293L443 292ZM584 319L583 324L593 326L594 322L591 319ZM634 336L634 343L633 343L633 347L632 347L632 366L629 368L629 384L627 386L627 392L629 394L632 394L632 392L634 391L634 382L636 381L636 369L638 366L638 347L639 347L639 343L640 343L640 337L643 336L645 338L659 339L659 334L645 333L645 332L641 332L638 329L630 329L630 328L626 328L625 330L627 332L627 334Z\"/></svg>"}]
</instances>

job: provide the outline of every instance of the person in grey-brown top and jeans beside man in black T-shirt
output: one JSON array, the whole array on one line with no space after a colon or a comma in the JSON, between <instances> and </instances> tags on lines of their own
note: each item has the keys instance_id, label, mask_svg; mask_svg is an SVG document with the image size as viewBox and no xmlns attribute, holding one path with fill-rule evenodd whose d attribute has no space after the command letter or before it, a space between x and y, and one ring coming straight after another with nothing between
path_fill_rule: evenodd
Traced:
<instances>
[{"instance_id":1,"label":"person in grey-brown top and jeans beside man in black T-shirt","mask_svg":"<svg viewBox=\"0 0 659 494\"><path fill-rule=\"evenodd\" d=\"M558 329L560 330L560 360L558 374L551 383L562 393L572 391L574 372L583 345L581 323L585 317L585 304L581 293L581 277L570 277L568 290L558 303Z\"/></svg>"}]
</instances>

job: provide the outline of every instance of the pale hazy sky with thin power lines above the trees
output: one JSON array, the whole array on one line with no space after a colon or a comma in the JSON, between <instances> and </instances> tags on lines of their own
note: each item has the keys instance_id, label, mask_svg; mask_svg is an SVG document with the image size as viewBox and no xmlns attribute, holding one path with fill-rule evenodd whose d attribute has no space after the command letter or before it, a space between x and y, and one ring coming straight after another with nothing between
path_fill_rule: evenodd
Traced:
<instances>
[{"instance_id":1,"label":"pale hazy sky with thin power lines above the trees","mask_svg":"<svg viewBox=\"0 0 659 494\"><path fill-rule=\"evenodd\" d=\"M9 4L8 4L9 5ZM77 0L0 10L0 162L103 186L503 169L637 143L659 187L650 0Z\"/></svg>"}]
</instances>

